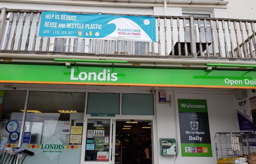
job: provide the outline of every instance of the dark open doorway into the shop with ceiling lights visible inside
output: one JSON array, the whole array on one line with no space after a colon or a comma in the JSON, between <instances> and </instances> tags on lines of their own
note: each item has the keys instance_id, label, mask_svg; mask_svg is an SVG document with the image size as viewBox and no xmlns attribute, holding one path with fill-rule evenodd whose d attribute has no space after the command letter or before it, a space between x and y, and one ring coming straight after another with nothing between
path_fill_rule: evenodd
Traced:
<instances>
[{"instance_id":1,"label":"dark open doorway into the shop with ceiling lights visible inside","mask_svg":"<svg viewBox=\"0 0 256 164\"><path fill-rule=\"evenodd\" d=\"M115 164L152 163L151 129L148 120L116 121Z\"/></svg>"}]
</instances>

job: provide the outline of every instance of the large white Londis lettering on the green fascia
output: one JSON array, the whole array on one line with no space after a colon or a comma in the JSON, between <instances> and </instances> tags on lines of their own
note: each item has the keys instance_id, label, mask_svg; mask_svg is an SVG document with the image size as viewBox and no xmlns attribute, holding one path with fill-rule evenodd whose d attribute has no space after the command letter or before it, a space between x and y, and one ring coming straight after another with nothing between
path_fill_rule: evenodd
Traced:
<instances>
[{"instance_id":1,"label":"large white Londis lettering on the green fascia","mask_svg":"<svg viewBox=\"0 0 256 164\"><path fill-rule=\"evenodd\" d=\"M117 77L117 73L110 73L109 69L103 69L103 72L100 73L96 73L96 72L80 72L78 74L78 77L75 77L74 75L74 68L71 69L71 75L70 75L70 79L71 80L86 80L88 79L88 81L117 81L118 77Z\"/></svg>"}]
</instances>

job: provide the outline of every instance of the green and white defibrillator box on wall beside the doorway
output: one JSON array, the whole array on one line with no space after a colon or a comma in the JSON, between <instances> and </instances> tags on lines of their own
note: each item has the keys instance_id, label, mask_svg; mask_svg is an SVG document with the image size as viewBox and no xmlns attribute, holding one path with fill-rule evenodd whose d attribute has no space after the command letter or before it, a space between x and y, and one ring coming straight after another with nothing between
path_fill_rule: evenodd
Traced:
<instances>
[{"instance_id":1,"label":"green and white defibrillator box on wall beside the doorway","mask_svg":"<svg viewBox=\"0 0 256 164\"><path fill-rule=\"evenodd\" d=\"M178 156L175 139L160 139L161 156Z\"/></svg>"}]
</instances>

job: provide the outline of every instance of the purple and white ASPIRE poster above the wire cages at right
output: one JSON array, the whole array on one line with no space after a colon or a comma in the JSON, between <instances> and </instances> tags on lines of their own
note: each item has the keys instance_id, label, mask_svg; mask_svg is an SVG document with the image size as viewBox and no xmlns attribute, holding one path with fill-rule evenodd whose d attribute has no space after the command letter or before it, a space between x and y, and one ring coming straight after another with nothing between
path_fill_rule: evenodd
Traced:
<instances>
[{"instance_id":1,"label":"purple and white ASPIRE poster above the wire cages at right","mask_svg":"<svg viewBox=\"0 0 256 164\"><path fill-rule=\"evenodd\" d=\"M244 100L239 100L236 103L237 118L238 118L238 123L239 123L239 129L240 130L254 130L255 126L253 124L252 101L253 101L253 99L249 100L247 98L247 99L244 99ZM250 104L251 104L251 107L250 107ZM252 109L252 111L251 111L251 109Z\"/></svg>"}]
</instances>

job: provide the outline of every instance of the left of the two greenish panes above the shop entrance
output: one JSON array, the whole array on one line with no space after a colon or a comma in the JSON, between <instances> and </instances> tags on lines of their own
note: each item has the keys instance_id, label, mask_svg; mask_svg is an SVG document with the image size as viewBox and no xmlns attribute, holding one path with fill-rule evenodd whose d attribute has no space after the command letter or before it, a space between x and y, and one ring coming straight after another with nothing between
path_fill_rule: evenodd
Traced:
<instances>
[{"instance_id":1,"label":"left of the two greenish panes above the shop entrance","mask_svg":"<svg viewBox=\"0 0 256 164\"><path fill-rule=\"evenodd\" d=\"M88 93L87 114L119 114L119 93Z\"/></svg>"}]
</instances>

